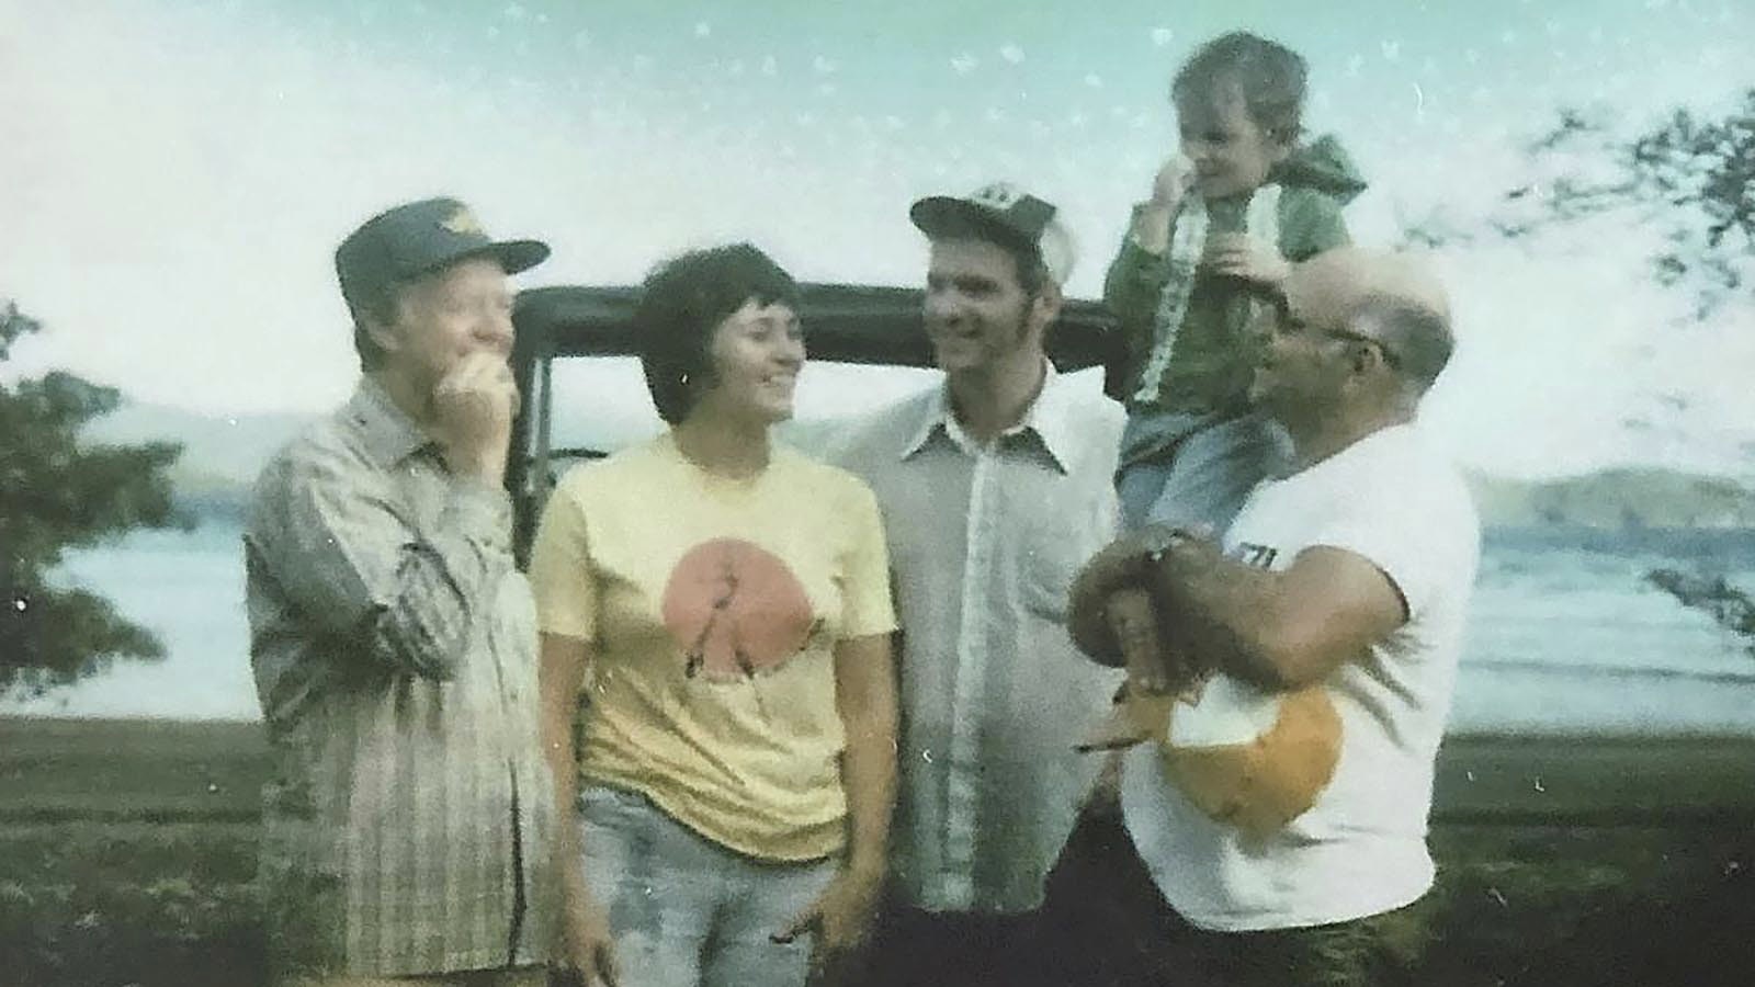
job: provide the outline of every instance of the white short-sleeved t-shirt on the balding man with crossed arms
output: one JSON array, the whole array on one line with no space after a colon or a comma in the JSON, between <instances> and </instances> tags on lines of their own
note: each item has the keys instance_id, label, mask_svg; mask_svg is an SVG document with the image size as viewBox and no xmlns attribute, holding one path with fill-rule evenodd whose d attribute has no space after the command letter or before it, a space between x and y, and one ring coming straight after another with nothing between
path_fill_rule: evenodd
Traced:
<instances>
[{"instance_id":1,"label":"white short-sleeved t-shirt on the balding man with crossed arms","mask_svg":"<svg viewBox=\"0 0 1755 987\"><path fill-rule=\"evenodd\" d=\"M1323 926L1400 908L1432 887L1425 847L1432 760L1444 732L1479 522L1457 471L1413 427L1372 432L1285 479L1264 481L1225 534L1232 558L1286 569L1332 546L1369 558L1408 622L1325 683L1341 757L1314 806L1264 841L1195 808L1158 745L1127 753L1121 808L1165 901L1218 931ZM1206 695L1248 704L1248 685Z\"/></svg>"}]
</instances>

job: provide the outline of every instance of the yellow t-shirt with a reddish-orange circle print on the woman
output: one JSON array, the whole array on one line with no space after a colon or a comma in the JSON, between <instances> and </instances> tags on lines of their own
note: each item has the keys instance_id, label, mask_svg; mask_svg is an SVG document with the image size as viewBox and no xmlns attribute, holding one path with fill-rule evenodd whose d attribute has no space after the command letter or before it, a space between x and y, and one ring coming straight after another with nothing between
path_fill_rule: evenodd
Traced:
<instances>
[{"instance_id":1,"label":"yellow t-shirt with a reddish-orange circle print on the woman","mask_svg":"<svg viewBox=\"0 0 1755 987\"><path fill-rule=\"evenodd\" d=\"M725 479L665 434L560 481L530 583L542 630L591 645L581 780L755 857L841 850L834 646L895 630L863 481L786 448Z\"/></svg>"}]
</instances>

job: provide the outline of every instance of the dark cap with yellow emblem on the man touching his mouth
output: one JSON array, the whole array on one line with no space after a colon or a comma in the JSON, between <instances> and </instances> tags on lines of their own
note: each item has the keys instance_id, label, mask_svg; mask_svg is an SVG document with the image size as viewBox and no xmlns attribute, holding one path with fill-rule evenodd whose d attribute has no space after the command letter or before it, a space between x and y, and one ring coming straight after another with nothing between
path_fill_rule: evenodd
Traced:
<instances>
[{"instance_id":1,"label":"dark cap with yellow emblem on the man touching his mouth","mask_svg":"<svg viewBox=\"0 0 1755 987\"><path fill-rule=\"evenodd\" d=\"M507 274L542 263L542 241L495 241L456 198L423 198L372 216L335 249L335 274L347 307L386 285L439 270L470 256L491 256Z\"/></svg>"}]
</instances>

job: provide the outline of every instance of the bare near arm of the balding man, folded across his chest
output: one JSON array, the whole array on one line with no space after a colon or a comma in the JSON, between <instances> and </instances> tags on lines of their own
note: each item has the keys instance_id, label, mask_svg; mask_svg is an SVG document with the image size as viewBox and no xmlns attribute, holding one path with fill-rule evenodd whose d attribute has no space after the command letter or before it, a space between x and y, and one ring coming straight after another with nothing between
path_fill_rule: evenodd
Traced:
<instances>
[{"instance_id":1,"label":"bare near arm of the balding man, folded across his chest","mask_svg":"<svg viewBox=\"0 0 1755 987\"><path fill-rule=\"evenodd\" d=\"M1276 690L1329 678L1408 620L1378 566L1330 546L1306 548L1274 573L1225 558L1211 541L1174 537L1144 583L1165 632L1197 666Z\"/></svg>"}]
</instances>

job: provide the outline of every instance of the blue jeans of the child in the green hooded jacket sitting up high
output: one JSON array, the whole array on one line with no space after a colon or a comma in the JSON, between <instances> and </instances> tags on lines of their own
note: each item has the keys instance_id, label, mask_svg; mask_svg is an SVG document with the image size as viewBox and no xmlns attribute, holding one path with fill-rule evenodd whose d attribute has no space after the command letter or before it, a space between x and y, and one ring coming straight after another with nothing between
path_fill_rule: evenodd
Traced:
<instances>
[{"instance_id":1,"label":"blue jeans of the child in the green hooded jacket sitting up high","mask_svg":"<svg viewBox=\"0 0 1755 987\"><path fill-rule=\"evenodd\" d=\"M1132 411L1114 479L1121 527L1211 527L1221 536L1250 490L1290 460L1292 441L1258 411L1234 418Z\"/></svg>"}]
</instances>

